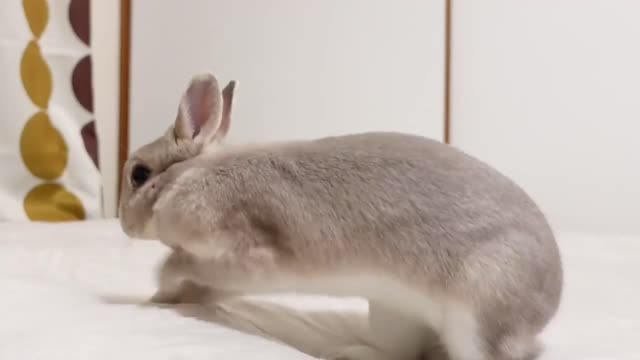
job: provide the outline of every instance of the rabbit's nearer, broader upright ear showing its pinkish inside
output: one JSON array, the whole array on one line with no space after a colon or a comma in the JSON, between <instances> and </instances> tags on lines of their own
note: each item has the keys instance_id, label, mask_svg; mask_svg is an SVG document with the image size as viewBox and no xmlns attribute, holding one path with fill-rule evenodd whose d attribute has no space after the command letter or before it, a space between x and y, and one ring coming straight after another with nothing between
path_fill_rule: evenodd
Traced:
<instances>
[{"instance_id":1,"label":"rabbit's nearer, broader upright ear showing its pinkish inside","mask_svg":"<svg viewBox=\"0 0 640 360\"><path fill-rule=\"evenodd\" d=\"M174 125L176 138L200 144L214 140L222 125L222 109L216 77L210 73L194 76L180 101Z\"/></svg>"}]
</instances>

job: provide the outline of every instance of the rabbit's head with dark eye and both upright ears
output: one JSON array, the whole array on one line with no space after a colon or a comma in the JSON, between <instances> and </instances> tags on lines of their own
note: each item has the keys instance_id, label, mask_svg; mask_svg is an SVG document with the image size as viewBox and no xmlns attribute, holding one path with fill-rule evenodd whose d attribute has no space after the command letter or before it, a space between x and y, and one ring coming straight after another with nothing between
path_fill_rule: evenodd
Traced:
<instances>
[{"instance_id":1,"label":"rabbit's head with dark eye and both upright ears","mask_svg":"<svg viewBox=\"0 0 640 360\"><path fill-rule=\"evenodd\" d=\"M224 140L231 121L236 82L220 90L214 75L195 76L182 96L173 126L136 150L122 169L119 217L127 235L155 239L150 220L158 195L172 178L168 169Z\"/></svg>"}]
</instances>

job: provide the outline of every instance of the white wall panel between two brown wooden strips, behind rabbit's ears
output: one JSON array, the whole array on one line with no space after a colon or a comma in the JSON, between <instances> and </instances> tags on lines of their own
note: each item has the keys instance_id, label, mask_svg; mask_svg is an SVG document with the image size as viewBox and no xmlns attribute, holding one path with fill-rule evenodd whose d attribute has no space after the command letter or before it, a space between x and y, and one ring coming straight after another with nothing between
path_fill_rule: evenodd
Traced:
<instances>
[{"instance_id":1,"label":"white wall panel between two brown wooden strips, behind rabbit's ears","mask_svg":"<svg viewBox=\"0 0 640 360\"><path fill-rule=\"evenodd\" d=\"M444 0L136 0L132 26L132 149L206 70L240 82L234 142L442 137Z\"/></svg>"}]
</instances>

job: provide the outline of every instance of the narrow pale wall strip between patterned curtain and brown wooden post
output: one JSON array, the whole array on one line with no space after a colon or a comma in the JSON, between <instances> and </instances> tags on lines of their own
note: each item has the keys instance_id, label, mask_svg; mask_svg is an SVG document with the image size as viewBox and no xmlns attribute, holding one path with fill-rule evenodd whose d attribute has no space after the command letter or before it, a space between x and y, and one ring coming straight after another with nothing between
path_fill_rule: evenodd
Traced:
<instances>
[{"instance_id":1,"label":"narrow pale wall strip between patterned curtain and brown wooden post","mask_svg":"<svg viewBox=\"0 0 640 360\"><path fill-rule=\"evenodd\" d=\"M118 188L120 1L91 2L91 52L103 209L106 217L113 217Z\"/></svg>"}]
</instances>

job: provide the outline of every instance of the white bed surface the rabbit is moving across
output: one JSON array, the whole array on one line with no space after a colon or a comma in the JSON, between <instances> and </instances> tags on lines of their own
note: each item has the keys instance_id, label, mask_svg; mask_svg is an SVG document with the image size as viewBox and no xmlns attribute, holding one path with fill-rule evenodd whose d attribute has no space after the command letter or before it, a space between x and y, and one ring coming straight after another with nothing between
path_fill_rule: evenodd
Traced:
<instances>
[{"instance_id":1,"label":"white bed surface the rabbit is moving across","mask_svg":"<svg viewBox=\"0 0 640 360\"><path fill-rule=\"evenodd\" d=\"M639 240L559 234L566 292L543 360L640 359ZM0 359L313 359L250 329L136 303L153 293L164 252L113 220L0 224ZM269 301L363 311L356 299Z\"/></svg>"}]
</instances>

